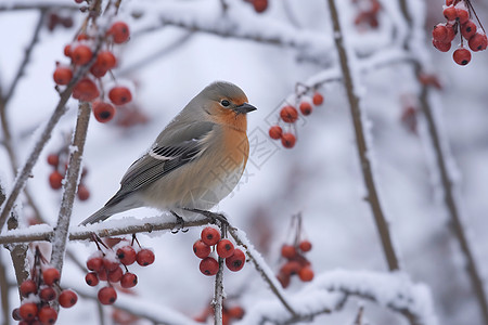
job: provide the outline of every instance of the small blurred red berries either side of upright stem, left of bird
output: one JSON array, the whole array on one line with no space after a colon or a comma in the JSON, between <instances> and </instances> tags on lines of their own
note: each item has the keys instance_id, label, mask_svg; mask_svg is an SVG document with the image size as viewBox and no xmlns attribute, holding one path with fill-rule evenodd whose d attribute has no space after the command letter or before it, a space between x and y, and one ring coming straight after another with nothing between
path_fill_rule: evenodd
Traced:
<instances>
[{"instance_id":1,"label":"small blurred red berries either side of upright stem, left of bird","mask_svg":"<svg viewBox=\"0 0 488 325\"><path fill-rule=\"evenodd\" d=\"M49 174L49 185L53 190L63 187L63 179L66 174L68 156L69 148L67 145L63 146L57 153L48 155L48 164L53 167L53 171ZM80 200L87 200L90 197L90 191L84 182L87 173L88 169L84 167L77 191L77 196Z\"/></svg>"}]
</instances>

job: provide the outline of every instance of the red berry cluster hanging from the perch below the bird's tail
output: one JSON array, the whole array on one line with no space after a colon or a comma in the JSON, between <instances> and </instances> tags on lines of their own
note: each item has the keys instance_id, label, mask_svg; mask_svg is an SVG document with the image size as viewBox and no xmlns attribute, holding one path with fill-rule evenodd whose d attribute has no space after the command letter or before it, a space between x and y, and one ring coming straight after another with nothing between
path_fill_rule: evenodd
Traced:
<instances>
[{"instance_id":1,"label":"red berry cluster hanging from the perch below the bird's tail","mask_svg":"<svg viewBox=\"0 0 488 325\"><path fill-rule=\"evenodd\" d=\"M119 283L123 288L132 288L138 284L138 276L129 272L128 265L137 262L141 266L147 266L154 262L155 256L151 249L131 245L118 244L114 248L108 248L100 238L94 238L99 250L88 259L85 281L89 286L97 286L101 281L106 281L107 285L99 290L98 298L102 304L112 304L117 300L117 292L112 284ZM105 251L102 250L101 244ZM124 269L124 270L123 270Z\"/></svg>"}]
</instances>

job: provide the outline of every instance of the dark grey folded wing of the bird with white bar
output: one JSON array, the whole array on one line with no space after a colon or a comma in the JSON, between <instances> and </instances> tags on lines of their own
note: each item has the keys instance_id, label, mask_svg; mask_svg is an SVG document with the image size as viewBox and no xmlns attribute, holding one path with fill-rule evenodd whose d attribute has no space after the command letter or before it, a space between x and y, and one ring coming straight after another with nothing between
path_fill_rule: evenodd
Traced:
<instances>
[{"instance_id":1,"label":"dark grey folded wing of the bird with white bar","mask_svg":"<svg viewBox=\"0 0 488 325\"><path fill-rule=\"evenodd\" d=\"M214 126L211 122L200 122L181 130L180 134L172 134L170 142L154 143L144 156L129 167L120 181L120 190L105 206L119 203L132 192L195 159L205 151L205 139Z\"/></svg>"}]
</instances>

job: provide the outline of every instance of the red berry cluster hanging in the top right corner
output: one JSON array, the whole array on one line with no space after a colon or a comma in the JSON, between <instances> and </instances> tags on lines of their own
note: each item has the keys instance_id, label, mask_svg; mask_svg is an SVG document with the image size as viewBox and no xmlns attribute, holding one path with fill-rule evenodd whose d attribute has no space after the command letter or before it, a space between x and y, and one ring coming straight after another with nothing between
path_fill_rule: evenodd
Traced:
<instances>
[{"instance_id":1,"label":"red berry cluster hanging in the top right corner","mask_svg":"<svg viewBox=\"0 0 488 325\"><path fill-rule=\"evenodd\" d=\"M446 0L444 16L447 23L437 24L432 31L432 43L441 52L448 52L455 35L461 34L461 44L452 53L452 58L459 65L466 65L471 61L471 52L464 48L463 40L467 41L467 46L473 52L486 50L488 44L485 29L476 13L475 17L480 28L471 20L472 12L475 13L475 10L471 0Z\"/></svg>"}]
</instances>

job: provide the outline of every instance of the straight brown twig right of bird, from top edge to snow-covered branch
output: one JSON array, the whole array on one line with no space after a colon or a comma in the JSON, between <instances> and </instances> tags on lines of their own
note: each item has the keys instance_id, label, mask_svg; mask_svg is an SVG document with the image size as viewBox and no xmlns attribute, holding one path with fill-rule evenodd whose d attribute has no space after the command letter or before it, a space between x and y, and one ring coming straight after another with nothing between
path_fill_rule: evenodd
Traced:
<instances>
[{"instance_id":1,"label":"straight brown twig right of bird, from top edge to snow-covered branch","mask_svg":"<svg viewBox=\"0 0 488 325\"><path fill-rule=\"evenodd\" d=\"M363 117L364 112L362 112L360 107L359 96L357 95L358 92L356 91L356 84L355 81L352 80L351 72L349 69L349 60L351 58L349 57L344 46L344 34L342 32L341 29L341 23L335 1L328 0L328 3L331 13L331 20L334 27L335 47L337 49L341 61L341 69L344 76L347 100L349 102L349 108L355 127L356 144L358 148L359 159L361 162L361 171L368 191L367 200L369 202L374 216L374 220L382 240L382 247L386 257L386 261L388 263L388 268L390 271L399 270L400 265L398 262L398 257L395 251L395 247L393 245L388 222L386 221L386 218L383 212L383 207L380 203L380 197L377 194L375 180L372 171L372 162L370 160L371 148L368 146L365 138L367 134L362 122L364 118Z\"/></svg>"}]
</instances>

